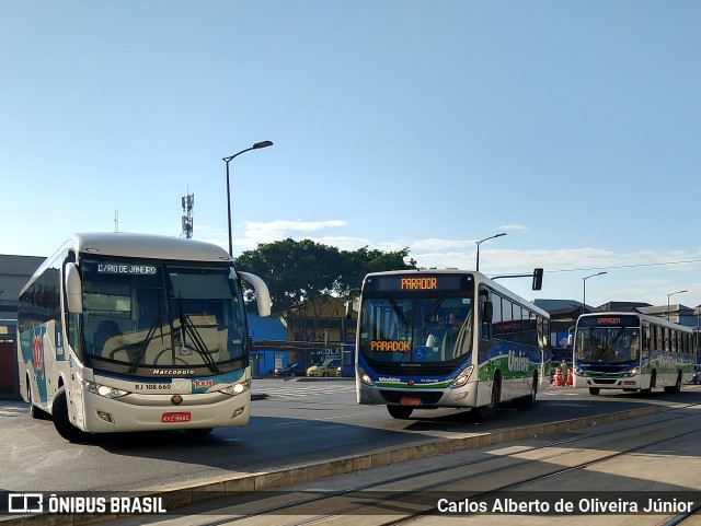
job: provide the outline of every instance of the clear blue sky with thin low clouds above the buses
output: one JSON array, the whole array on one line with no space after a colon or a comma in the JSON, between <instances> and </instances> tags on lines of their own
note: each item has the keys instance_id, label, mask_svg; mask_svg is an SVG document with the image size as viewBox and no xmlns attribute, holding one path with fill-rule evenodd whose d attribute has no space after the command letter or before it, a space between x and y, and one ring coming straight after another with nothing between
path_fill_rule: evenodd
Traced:
<instances>
[{"instance_id":1,"label":"clear blue sky with thin low clouds above the buses","mask_svg":"<svg viewBox=\"0 0 701 526\"><path fill-rule=\"evenodd\" d=\"M409 247L527 299L701 303L701 3L0 1L0 253Z\"/></svg>"}]
</instances>

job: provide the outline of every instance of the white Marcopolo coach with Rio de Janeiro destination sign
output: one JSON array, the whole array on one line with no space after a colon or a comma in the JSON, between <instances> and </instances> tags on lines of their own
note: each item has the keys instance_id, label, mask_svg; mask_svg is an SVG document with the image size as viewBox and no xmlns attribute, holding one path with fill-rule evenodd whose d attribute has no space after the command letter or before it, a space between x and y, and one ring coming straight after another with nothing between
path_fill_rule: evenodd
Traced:
<instances>
[{"instance_id":1,"label":"white Marcopolo coach with Rio de Janeiro destination sign","mask_svg":"<svg viewBox=\"0 0 701 526\"><path fill-rule=\"evenodd\" d=\"M20 293L20 390L67 440L87 433L245 425L251 350L240 278L218 246L76 234Z\"/></svg>"}]
</instances>

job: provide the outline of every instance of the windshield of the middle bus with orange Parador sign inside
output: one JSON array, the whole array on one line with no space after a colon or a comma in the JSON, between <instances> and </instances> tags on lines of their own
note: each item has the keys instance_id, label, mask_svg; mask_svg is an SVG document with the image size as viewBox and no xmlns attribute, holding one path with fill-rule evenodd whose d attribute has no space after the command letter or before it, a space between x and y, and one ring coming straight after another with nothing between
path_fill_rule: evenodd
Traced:
<instances>
[{"instance_id":1,"label":"windshield of the middle bus with orange Parador sign inside","mask_svg":"<svg viewBox=\"0 0 701 526\"><path fill-rule=\"evenodd\" d=\"M457 363L470 353L472 318L470 297L386 294L366 299L359 351L381 363Z\"/></svg>"}]
</instances>

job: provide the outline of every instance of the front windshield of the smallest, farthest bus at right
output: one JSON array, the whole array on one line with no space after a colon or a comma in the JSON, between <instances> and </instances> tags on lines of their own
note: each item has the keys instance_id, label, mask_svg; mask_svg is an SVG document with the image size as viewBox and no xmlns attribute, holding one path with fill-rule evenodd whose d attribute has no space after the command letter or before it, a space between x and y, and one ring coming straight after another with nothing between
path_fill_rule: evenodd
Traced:
<instances>
[{"instance_id":1,"label":"front windshield of the smallest, farthest bus at right","mask_svg":"<svg viewBox=\"0 0 701 526\"><path fill-rule=\"evenodd\" d=\"M639 327L579 327L575 358L581 362L619 364L640 360Z\"/></svg>"}]
</instances>

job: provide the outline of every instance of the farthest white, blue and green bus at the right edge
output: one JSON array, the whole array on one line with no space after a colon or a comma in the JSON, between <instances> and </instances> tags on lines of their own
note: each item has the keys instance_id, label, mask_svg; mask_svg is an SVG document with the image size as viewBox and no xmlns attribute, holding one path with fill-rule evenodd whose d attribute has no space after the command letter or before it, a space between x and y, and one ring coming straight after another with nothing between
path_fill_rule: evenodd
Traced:
<instances>
[{"instance_id":1,"label":"farthest white, blue and green bus at the right edge","mask_svg":"<svg viewBox=\"0 0 701 526\"><path fill-rule=\"evenodd\" d=\"M689 327L633 313L593 313L577 319L575 387L679 393L693 376L696 344Z\"/></svg>"}]
</instances>

